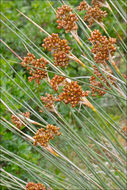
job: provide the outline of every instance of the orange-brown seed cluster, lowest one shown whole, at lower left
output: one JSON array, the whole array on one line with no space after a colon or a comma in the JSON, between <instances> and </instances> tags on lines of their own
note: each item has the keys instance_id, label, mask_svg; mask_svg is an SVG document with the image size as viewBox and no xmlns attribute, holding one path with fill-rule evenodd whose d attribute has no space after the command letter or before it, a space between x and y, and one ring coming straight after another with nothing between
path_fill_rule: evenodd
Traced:
<instances>
[{"instance_id":1,"label":"orange-brown seed cluster, lowest one shown whole, at lower left","mask_svg":"<svg viewBox=\"0 0 127 190\"><path fill-rule=\"evenodd\" d=\"M61 132L59 132L59 127L56 127L54 125L48 124L46 126L46 129L41 128L37 131L34 138L34 145L36 146L37 143L39 143L41 146L48 147L49 140L53 140L55 136L61 135Z\"/></svg>"}]
</instances>

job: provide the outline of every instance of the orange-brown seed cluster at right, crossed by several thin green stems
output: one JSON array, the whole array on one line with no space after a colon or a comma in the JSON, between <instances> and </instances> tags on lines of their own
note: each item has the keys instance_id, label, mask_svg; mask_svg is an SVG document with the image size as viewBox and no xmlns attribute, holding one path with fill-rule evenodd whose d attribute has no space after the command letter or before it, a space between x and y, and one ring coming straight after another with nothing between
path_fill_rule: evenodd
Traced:
<instances>
[{"instance_id":1,"label":"orange-brown seed cluster at right, crossed by several thin green stems","mask_svg":"<svg viewBox=\"0 0 127 190\"><path fill-rule=\"evenodd\" d=\"M107 86L111 89L110 84L109 84L108 81L104 78L104 76L101 74L101 72L98 70L98 68L97 68L95 65L93 66L93 68L94 68L94 74L95 74L105 85L107 85ZM105 70L108 71L109 73L112 73L109 68L107 68L107 69L105 68ZM115 79L114 79L114 78L112 78L112 77L111 77L110 75L108 75L108 74L105 74L105 76L107 77L107 79L110 81L110 83L111 83L112 85L115 85ZM95 76L92 75L89 80L90 80L90 84L92 85L92 86L90 86L90 88L91 88L91 90L92 90L92 92L91 92L91 95L92 95L92 96L96 96L97 94L98 94L99 96L103 96L104 94L106 94L106 92L103 91L103 90L106 90L106 91L107 91L108 89L107 89L100 81L98 81ZM98 88L96 88L96 87L99 87L99 88L101 88L101 89L103 89L103 90L98 89Z\"/></svg>"}]
</instances>

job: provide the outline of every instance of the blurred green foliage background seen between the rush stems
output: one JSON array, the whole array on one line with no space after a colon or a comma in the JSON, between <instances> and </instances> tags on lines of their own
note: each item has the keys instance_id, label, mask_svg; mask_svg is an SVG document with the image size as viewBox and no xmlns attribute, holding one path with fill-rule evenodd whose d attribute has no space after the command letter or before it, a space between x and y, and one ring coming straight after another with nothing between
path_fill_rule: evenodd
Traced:
<instances>
[{"instance_id":1,"label":"blurred green foliage background seen between the rush stems","mask_svg":"<svg viewBox=\"0 0 127 190\"><path fill-rule=\"evenodd\" d=\"M91 2L90 0L88 1ZM58 7L57 1L52 1L54 7ZM80 3L80 0L71 0L71 5L73 7L77 7ZM119 1L121 4L121 1ZM121 4L123 6L123 4ZM39 31L34 25L32 25L29 21L27 21L24 17L22 17L17 10L20 10L25 15L30 17L32 20L34 20L36 23L38 23L40 26L46 29L47 32L51 33L59 33L62 38L66 38L69 41L69 45L73 49L73 53L75 55L78 55L80 53L79 49L77 48L77 45L75 44L75 40L71 37L69 34L65 34L64 30L57 29L57 23L56 23L56 16L51 9L50 5L46 0L1 0L1 12L10 19L18 29L20 29L23 33L27 34L27 36L38 46L41 47L43 39L46 37L46 35ZM105 9L105 8L103 8ZM104 19L104 23L107 25L108 32L111 37L116 37L116 33L114 32L114 29L110 27L110 23L112 23L112 26L116 27L117 23L114 17L112 17L111 13L106 9L108 12L108 18L106 17ZM81 15L83 13L80 13ZM116 13L118 19L121 21L121 17ZM2 17L3 20L5 20ZM125 28L124 23L122 23L123 28ZM103 30L96 25L93 26L94 28L99 28L104 34ZM17 30L18 33L18 30ZM80 36L83 38L83 33L79 31ZM122 39L126 43L126 38L124 37L123 33L119 29L119 34L121 35ZM24 48L24 44L22 43L17 36L11 32L8 28L6 28L4 25L1 25L1 36L3 41L5 41L14 51L17 52L18 55L20 55L22 58L26 56L27 51ZM117 41L119 43L119 41ZM51 89L46 85L45 82L42 82L41 85L37 85L34 82L29 83L27 80L27 73L25 69L17 64L19 63L19 60L17 57L15 57L4 45L1 45L1 52L5 56L5 58L9 61L11 60L11 64L14 67L14 69L17 71L17 73L22 76L25 80L25 82L31 87L31 89L36 92L36 95L40 97L41 95L44 95L46 92L51 92ZM48 52L46 52L48 53ZM123 55L125 55L124 50L122 50ZM122 73L125 73L126 68L125 64L122 64L123 60L116 56L116 62L117 66L120 68ZM4 64L4 61L1 60L1 68L11 77L15 79L16 82L20 84L20 81L18 77L15 75L13 70L10 70L9 66L7 64ZM75 76L89 76L88 71L86 71L85 68L82 68L80 65L77 65L74 62L70 63L70 67L67 68L67 74L70 77ZM52 75L52 74L51 74ZM15 97L18 97L18 99L26 101L28 104L32 104L29 102L30 100L28 97L24 95L22 91L19 91L17 89L13 82L9 80L8 78L4 77L4 75L1 73L1 86L5 89L9 90L9 92L14 95ZM84 90L87 90L87 86L83 86ZM3 97L5 98L5 97ZM110 95L107 95L105 98L96 97L95 101L99 105L103 105L103 108L109 113L110 117L119 125L124 126L126 124L125 117L120 112L119 108L115 104L114 100ZM35 105L31 105L33 109L36 109L34 107ZM19 106L18 109L22 108ZM61 113L64 114L65 118L70 124L70 127L73 128L79 135L82 135L82 129L81 126L77 125L75 122L73 116L71 116L69 113L69 107L65 107L65 105L61 105L59 108ZM22 110L24 111L24 110ZM10 121L11 114L5 109L3 105L1 105L1 116L5 117L7 120ZM89 118L89 115L86 116ZM45 116L46 117L46 116ZM33 118L34 119L34 116ZM47 122L50 123L50 118L46 118ZM91 127L91 126L89 126ZM24 129L25 131L25 129ZM68 158L71 158L72 160L75 159L74 152L70 152L70 147L66 144L66 142L63 142L61 139L61 142L58 141L56 138L55 143L58 147L64 147L63 152L65 155L67 155ZM23 141L21 138L19 138L14 133L10 132L8 129L1 127L1 145L3 145L6 149L9 151L13 151L13 153L16 153L17 155L21 156L22 158L25 158L28 161L31 161L38 166L41 166L43 168L46 168L50 172L55 173L57 176L64 177L63 174L60 172L58 168L47 162L45 157L42 158L42 155L38 154L29 144L27 144L25 141ZM43 161L42 161L43 160ZM78 160L75 160L75 163L78 163ZM82 163L79 163L79 165ZM11 172L14 175L18 176L19 178L30 181L31 177L29 174L24 173L24 170L22 170L19 166L13 164L13 163L3 163L2 166L7 172ZM6 187L1 187L2 190L5 190Z\"/></svg>"}]
</instances>

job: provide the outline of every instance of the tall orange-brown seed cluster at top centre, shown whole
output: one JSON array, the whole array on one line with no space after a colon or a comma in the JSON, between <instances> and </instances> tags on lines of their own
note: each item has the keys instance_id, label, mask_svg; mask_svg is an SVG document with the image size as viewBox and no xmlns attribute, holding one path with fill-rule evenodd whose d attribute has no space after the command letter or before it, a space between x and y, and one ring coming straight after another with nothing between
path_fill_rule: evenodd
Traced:
<instances>
[{"instance_id":1,"label":"tall orange-brown seed cluster at top centre, shown whole","mask_svg":"<svg viewBox=\"0 0 127 190\"><path fill-rule=\"evenodd\" d=\"M56 11L56 18L58 19L57 28L64 28L66 33L70 31L77 31L78 26L76 24L76 21L78 21L78 18L74 13L72 13L71 7L67 5L59 7Z\"/></svg>"}]
</instances>

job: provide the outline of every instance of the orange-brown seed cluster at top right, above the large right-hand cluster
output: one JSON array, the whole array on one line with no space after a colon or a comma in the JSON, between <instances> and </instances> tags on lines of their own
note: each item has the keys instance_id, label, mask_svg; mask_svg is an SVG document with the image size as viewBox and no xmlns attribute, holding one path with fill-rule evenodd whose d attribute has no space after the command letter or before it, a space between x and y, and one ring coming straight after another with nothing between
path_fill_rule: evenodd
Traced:
<instances>
[{"instance_id":1,"label":"orange-brown seed cluster at top right, above the large right-hand cluster","mask_svg":"<svg viewBox=\"0 0 127 190\"><path fill-rule=\"evenodd\" d=\"M89 7L84 20L89 23L89 27L95 23L95 21L102 22L103 17L106 17L107 12L102 11L98 6L95 7Z\"/></svg>"}]
</instances>

